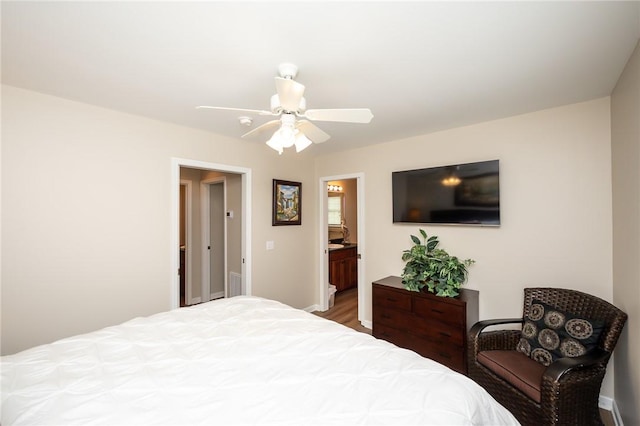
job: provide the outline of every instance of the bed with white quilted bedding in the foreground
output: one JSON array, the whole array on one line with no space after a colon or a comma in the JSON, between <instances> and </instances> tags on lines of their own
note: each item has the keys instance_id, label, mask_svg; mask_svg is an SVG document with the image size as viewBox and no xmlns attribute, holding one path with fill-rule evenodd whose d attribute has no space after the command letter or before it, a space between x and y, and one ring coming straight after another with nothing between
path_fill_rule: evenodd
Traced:
<instances>
[{"instance_id":1,"label":"bed with white quilted bedding in the foreground","mask_svg":"<svg viewBox=\"0 0 640 426\"><path fill-rule=\"evenodd\" d=\"M1 368L3 426L518 424L463 375L257 297L136 318Z\"/></svg>"}]
</instances>

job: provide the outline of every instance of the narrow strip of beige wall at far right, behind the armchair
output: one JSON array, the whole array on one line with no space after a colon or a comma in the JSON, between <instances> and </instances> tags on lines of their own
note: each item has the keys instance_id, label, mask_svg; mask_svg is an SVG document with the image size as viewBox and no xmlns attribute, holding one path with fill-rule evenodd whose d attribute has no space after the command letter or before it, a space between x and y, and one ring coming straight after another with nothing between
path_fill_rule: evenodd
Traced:
<instances>
[{"instance_id":1,"label":"narrow strip of beige wall at far right, behind the armchair","mask_svg":"<svg viewBox=\"0 0 640 426\"><path fill-rule=\"evenodd\" d=\"M640 44L611 95L613 300L629 315L618 347L615 399L624 424L640 424Z\"/></svg>"}]
</instances>

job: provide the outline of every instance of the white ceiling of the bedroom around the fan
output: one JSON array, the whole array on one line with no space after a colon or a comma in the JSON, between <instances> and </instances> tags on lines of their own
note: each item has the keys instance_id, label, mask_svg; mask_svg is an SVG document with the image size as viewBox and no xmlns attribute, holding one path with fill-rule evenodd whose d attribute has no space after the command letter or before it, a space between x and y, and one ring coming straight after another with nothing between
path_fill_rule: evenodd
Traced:
<instances>
[{"instance_id":1,"label":"white ceiling of the bedroom around the fan","mask_svg":"<svg viewBox=\"0 0 640 426\"><path fill-rule=\"evenodd\" d=\"M235 138L241 114L194 107L269 109L293 62L308 108L374 114L316 122L332 138L313 154L607 96L640 38L638 1L1 7L4 84Z\"/></svg>"}]
</instances>

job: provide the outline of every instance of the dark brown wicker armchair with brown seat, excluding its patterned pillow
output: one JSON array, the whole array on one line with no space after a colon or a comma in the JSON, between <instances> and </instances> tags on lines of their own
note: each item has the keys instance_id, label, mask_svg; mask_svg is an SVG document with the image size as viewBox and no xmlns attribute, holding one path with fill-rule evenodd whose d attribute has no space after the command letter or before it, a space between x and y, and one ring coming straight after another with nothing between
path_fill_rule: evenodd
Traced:
<instances>
[{"instance_id":1,"label":"dark brown wicker armchair with brown seat, excluding its patterned pillow","mask_svg":"<svg viewBox=\"0 0 640 426\"><path fill-rule=\"evenodd\" d=\"M600 337L594 342L596 347L585 355L558 358L545 366L516 351L521 330L483 331L488 326L524 323L530 319L533 300L603 324ZM471 328L469 377L523 425L602 425L598 409L600 386L626 320L627 314L620 309L589 294L526 288L522 318L485 320ZM497 368L491 362L502 365Z\"/></svg>"}]
</instances>

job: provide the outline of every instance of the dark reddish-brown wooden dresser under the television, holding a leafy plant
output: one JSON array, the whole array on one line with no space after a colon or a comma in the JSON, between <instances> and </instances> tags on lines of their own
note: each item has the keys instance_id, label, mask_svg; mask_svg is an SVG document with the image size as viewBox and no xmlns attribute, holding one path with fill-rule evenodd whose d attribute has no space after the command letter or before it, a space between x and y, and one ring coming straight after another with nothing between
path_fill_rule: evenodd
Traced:
<instances>
[{"instance_id":1,"label":"dark reddish-brown wooden dresser under the television, holding a leafy plant","mask_svg":"<svg viewBox=\"0 0 640 426\"><path fill-rule=\"evenodd\" d=\"M467 374L467 331L478 321L478 291L456 298L409 291L400 277L373 282L373 336Z\"/></svg>"}]
</instances>

